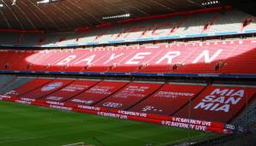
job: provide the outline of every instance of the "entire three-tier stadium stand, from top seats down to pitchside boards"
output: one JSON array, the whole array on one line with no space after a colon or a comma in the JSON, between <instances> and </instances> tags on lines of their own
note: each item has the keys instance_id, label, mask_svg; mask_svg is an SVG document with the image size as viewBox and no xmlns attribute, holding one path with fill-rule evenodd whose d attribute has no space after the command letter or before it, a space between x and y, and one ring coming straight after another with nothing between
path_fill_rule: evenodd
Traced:
<instances>
[{"instance_id":1,"label":"entire three-tier stadium stand, from top seats down to pitchside boards","mask_svg":"<svg viewBox=\"0 0 256 146\"><path fill-rule=\"evenodd\" d=\"M256 79L256 38L233 37L254 35L256 21L240 10L2 31L0 101L221 133L255 124L256 86L243 83Z\"/></svg>"}]
</instances>

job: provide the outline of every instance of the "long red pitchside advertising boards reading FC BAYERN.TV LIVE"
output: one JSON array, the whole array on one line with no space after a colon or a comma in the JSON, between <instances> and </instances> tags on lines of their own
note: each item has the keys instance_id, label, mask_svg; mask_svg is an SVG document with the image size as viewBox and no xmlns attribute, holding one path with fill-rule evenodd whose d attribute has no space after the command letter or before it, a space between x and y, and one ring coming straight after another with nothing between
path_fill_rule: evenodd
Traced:
<instances>
[{"instance_id":1,"label":"long red pitchside advertising boards reading FC BAYERN.TV LIVE","mask_svg":"<svg viewBox=\"0 0 256 146\"><path fill-rule=\"evenodd\" d=\"M109 111L106 108L96 108L96 107L78 106L78 105L76 106L72 105L72 107L71 106L68 107L67 105L60 106L60 105L46 104L46 103L43 103L42 101L27 102L27 101L18 100L17 98L1 97L0 100L7 101L7 102L19 102L22 104L36 105L36 106L45 107L45 108L56 108L61 110L75 111L75 112L81 112L81 113L87 113L87 114L97 114L101 116L113 117L113 118L118 118L122 120L137 120L137 121L161 124L163 126L176 126L180 128L186 128L186 129L192 129L192 130L198 130L198 131L214 131L214 132L226 133L226 134L229 134L232 132L232 130L226 129L223 123L216 123L216 122L210 122L210 121L204 121L204 120L191 120L191 119L160 116L160 115L155 116L155 118L158 117L160 119L154 119L152 118L154 114L140 114L140 113L134 113L129 111L119 111L119 110ZM162 120L161 117L162 119L166 119L166 120Z\"/></svg>"}]
</instances>

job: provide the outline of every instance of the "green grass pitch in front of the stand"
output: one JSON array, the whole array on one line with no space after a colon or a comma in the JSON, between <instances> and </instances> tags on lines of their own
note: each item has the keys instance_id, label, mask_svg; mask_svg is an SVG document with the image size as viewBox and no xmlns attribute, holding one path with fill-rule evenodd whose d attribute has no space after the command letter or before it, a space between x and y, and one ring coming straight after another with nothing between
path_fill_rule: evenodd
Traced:
<instances>
[{"instance_id":1,"label":"green grass pitch in front of the stand","mask_svg":"<svg viewBox=\"0 0 256 146\"><path fill-rule=\"evenodd\" d=\"M61 146L84 142L105 146L165 146L216 134L0 102L1 146ZM98 140L98 141L97 141Z\"/></svg>"}]
</instances>

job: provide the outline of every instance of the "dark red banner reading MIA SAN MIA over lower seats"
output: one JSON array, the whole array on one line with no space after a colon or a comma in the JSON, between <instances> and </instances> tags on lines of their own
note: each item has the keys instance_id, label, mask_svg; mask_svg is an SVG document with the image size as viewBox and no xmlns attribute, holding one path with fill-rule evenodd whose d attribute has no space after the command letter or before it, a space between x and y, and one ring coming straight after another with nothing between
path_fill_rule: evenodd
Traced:
<instances>
[{"instance_id":1,"label":"dark red banner reading MIA SAN MIA over lower seats","mask_svg":"<svg viewBox=\"0 0 256 146\"><path fill-rule=\"evenodd\" d=\"M228 123L255 95L255 86L209 85L174 116Z\"/></svg>"}]
</instances>

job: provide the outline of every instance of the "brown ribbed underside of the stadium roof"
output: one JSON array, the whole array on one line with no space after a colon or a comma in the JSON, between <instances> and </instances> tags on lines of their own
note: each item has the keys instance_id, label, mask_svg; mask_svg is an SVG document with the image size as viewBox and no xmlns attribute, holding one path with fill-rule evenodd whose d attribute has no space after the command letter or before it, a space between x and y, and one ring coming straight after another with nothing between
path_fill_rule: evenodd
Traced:
<instances>
[{"instance_id":1,"label":"brown ribbed underside of the stadium roof","mask_svg":"<svg viewBox=\"0 0 256 146\"><path fill-rule=\"evenodd\" d=\"M38 3L38 2L50 3ZM54 1L54 2L53 2ZM55 2L57 1L57 2ZM201 9L204 0L0 0L0 29L59 30L95 26L114 15L131 18Z\"/></svg>"}]
</instances>

